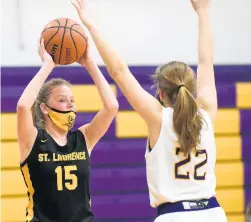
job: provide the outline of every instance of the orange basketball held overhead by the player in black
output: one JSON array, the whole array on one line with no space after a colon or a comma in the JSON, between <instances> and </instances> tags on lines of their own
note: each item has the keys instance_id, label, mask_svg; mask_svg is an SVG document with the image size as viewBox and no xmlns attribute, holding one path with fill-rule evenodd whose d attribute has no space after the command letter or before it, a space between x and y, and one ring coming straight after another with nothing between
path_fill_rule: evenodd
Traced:
<instances>
[{"instance_id":1,"label":"orange basketball held overhead by the player in black","mask_svg":"<svg viewBox=\"0 0 251 222\"><path fill-rule=\"evenodd\" d=\"M45 49L53 61L60 65L78 61L87 47L84 29L69 18L49 22L44 27L41 38L44 39Z\"/></svg>"}]
</instances>

